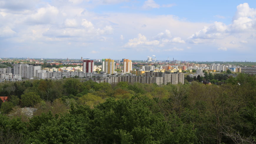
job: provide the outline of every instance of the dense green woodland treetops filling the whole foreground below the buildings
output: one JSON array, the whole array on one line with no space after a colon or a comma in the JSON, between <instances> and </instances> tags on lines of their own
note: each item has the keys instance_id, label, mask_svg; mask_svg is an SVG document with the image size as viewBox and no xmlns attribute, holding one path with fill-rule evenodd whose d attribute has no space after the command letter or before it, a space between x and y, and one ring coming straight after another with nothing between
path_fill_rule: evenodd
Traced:
<instances>
[{"instance_id":1,"label":"dense green woodland treetops filling the whole foreground below the buildings","mask_svg":"<svg viewBox=\"0 0 256 144\"><path fill-rule=\"evenodd\" d=\"M204 80L213 84L1 83L1 111L15 116L0 114L0 143L255 143L255 75ZM38 110L24 119L18 106Z\"/></svg>"}]
</instances>

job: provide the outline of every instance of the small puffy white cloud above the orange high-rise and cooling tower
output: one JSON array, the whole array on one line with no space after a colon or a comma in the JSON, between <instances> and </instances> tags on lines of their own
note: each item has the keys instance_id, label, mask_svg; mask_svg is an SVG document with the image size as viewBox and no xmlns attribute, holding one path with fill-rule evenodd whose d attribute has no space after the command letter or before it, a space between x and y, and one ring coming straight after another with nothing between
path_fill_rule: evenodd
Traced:
<instances>
[{"instance_id":1,"label":"small puffy white cloud above the orange high-rise and cooling tower","mask_svg":"<svg viewBox=\"0 0 256 144\"><path fill-rule=\"evenodd\" d=\"M149 41L146 36L138 34L137 38L129 39L129 42L124 47L136 47L136 46L157 46L159 45L158 40Z\"/></svg>"}]
</instances>

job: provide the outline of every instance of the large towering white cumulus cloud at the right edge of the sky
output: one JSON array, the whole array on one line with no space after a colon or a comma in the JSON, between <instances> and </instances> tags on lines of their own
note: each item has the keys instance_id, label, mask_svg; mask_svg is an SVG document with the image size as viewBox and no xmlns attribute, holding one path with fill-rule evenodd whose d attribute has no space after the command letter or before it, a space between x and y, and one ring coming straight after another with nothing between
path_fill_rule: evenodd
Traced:
<instances>
[{"instance_id":1,"label":"large towering white cumulus cloud at the right edge of the sky","mask_svg":"<svg viewBox=\"0 0 256 144\"><path fill-rule=\"evenodd\" d=\"M197 31L188 38L190 43L208 43L208 40L230 39L232 36L245 36L256 31L256 10L244 3L237 6L237 11L233 17L232 24L226 25L222 22L214 22L211 26L205 26L202 30ZM218 17L218 16L216 16ZM221 17L219 17L221 18ZM240 43L243 43L240 41ZM235 44L231 41L231 44Z\"/></svg>"}]
</instances>

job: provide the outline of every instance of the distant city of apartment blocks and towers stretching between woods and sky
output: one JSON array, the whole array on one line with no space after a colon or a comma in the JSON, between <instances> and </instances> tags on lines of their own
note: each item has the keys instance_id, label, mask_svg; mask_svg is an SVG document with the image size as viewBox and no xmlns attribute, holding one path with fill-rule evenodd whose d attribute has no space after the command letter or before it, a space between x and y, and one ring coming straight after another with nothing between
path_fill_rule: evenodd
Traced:
<instances>
[{"instance_id":1,"label":"distant city of apartment blocks and towers stretching between woods and sky","mask_svg":"<svg viewBox=\"0 0 256 144\"><path fill-rule=\"evenodd\" d=\"M235 61L234 61L235 62ZM245 61L246 62L246 61ZM233 73L256 74L255 66L236 66L228 62L197 63L191 61L165 60L158 61L156 56L147 56L146 60L113 59L73 59L49 60L34 58L0 58L0 63L11 66L0 68L0 82L26 81L33 79L84 78L97 83L117 84L120 81L129 83L184 84L184 73L193 78L207 73L220 73L227 70ZM235 74L233 75L235 77Z\"/></svg>"}]
</instances>

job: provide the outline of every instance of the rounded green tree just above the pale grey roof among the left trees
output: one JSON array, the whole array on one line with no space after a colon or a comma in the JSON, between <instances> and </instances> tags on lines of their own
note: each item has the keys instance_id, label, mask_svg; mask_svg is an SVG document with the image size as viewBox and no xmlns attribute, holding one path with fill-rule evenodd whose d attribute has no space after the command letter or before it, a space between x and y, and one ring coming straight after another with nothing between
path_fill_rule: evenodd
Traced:
<instances>
[{"instance_id":1,"label":"rounded green tree just above the pale grey roof among the left trees","mask_svg":"<svg viewBox=\"0 0 256 144\"><path fill-rule=\"evenodd\" d=\"M35 92L28 92L21 95L21 103L23 106L34 106L42 99Z\"/></svg>"}]
</instances>

